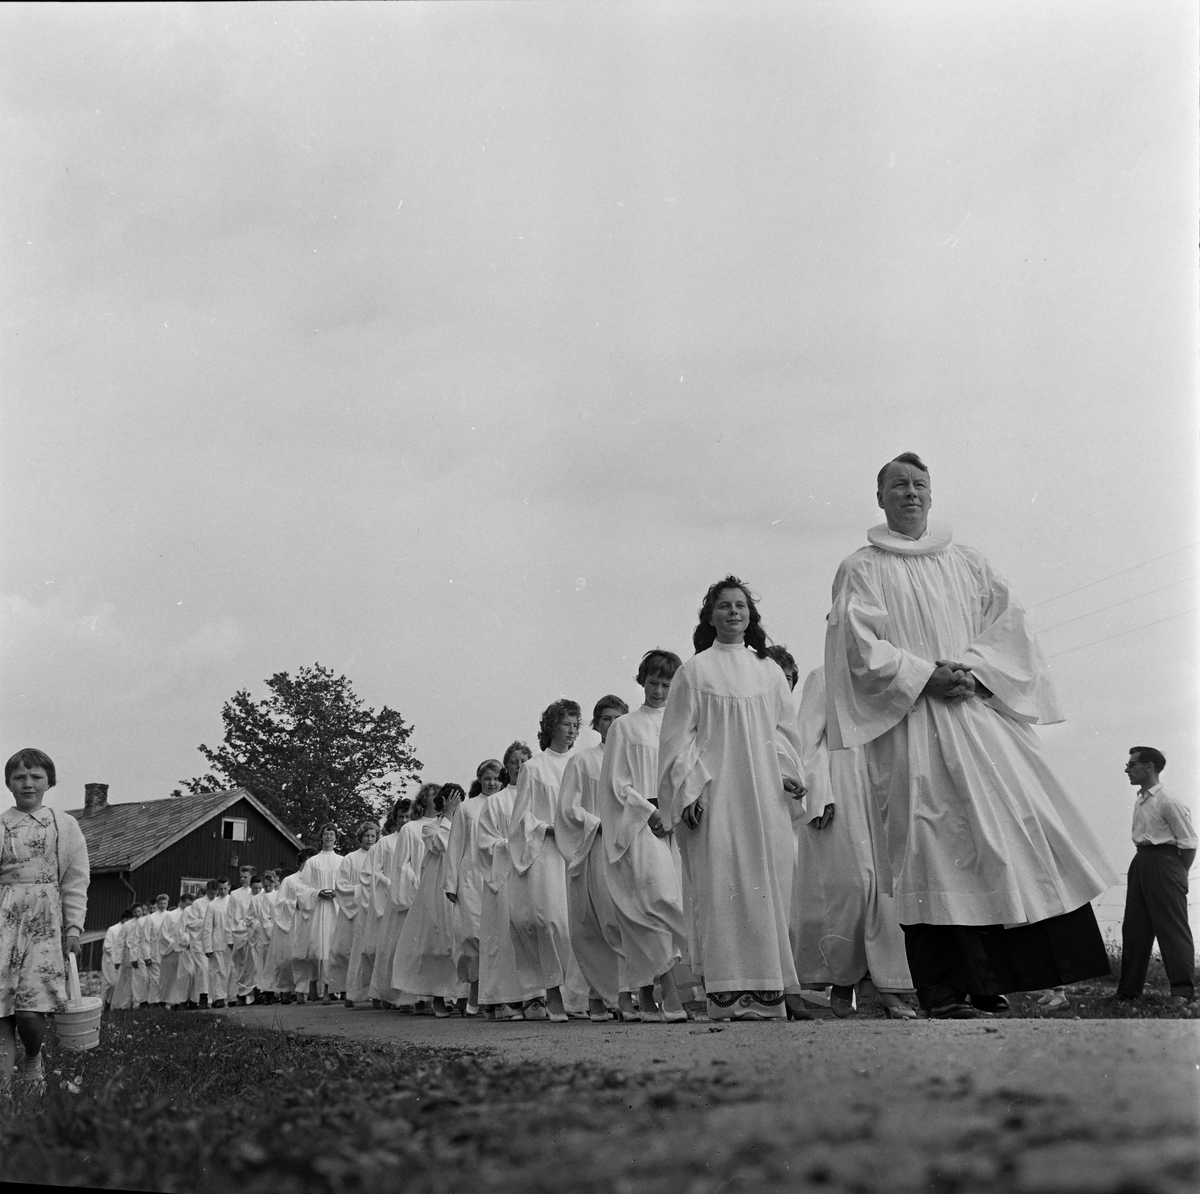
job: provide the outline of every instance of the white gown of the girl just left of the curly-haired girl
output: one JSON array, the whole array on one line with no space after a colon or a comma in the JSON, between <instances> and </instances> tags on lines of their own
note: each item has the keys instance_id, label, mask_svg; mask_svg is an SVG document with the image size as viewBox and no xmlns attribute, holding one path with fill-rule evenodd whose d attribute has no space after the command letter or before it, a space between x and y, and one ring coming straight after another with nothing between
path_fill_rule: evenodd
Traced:
<instances>
[{"instance_id":1,"label":"white gown of the girl just left of the curly-haired girl","mask_svg":"<svg viewBox=\"0 0 1200 1194\"><path fill-rule=\"evenodd\" d=\"M517 973L516 949L509 929L509 820L515 787L487 798L479 814L479 870L484 881L479 908L479 1002L524 1003L544 996L545 986L524 986Z\"/></svg>"}]
</instances>

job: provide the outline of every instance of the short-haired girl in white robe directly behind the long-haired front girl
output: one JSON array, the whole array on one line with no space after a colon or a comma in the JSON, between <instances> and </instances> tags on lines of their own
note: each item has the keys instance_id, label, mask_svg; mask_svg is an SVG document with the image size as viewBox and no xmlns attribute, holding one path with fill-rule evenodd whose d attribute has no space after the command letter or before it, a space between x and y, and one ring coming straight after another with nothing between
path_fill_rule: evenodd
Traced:
<instances>
[{"instance_id":1,"label":"short-haired girl in white robe directly behind the long-haired front girl","mask_svg":"<svg viewBox=\"0 0 1200 1194\"><path fill-rule=\"evenodd\" d=\"M662 712L680 666L679 656L668 650L643 656L637 683L646 700L610 731L599 792L625 974L637 991L640 1019L671 1022L688 1019L673 974L688 947L688 930L671 835L658 808L658 779ZM661 1010L654 1001L655 983L662 988Z\"/></svg>"}]
</instances>

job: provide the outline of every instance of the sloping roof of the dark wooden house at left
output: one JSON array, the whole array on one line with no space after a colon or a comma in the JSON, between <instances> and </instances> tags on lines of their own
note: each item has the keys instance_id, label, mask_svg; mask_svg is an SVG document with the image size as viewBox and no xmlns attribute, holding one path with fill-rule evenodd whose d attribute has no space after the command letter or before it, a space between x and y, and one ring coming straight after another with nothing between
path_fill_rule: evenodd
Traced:
<instances>
[{"instance_id":1,"label":"sloping roof of the dark wooden house at left","mask_svg":"<svg viewBox=\"0 0 1200 1194\"><path fill-rule=\"evenodd\" d=\"M132 871L239 800L248 800L296 850L304 845L262 800L244 787L173 796L142 804L108 804L100 811L67 811L83 829L94 871Z\"/></svg>"}]
</instances>

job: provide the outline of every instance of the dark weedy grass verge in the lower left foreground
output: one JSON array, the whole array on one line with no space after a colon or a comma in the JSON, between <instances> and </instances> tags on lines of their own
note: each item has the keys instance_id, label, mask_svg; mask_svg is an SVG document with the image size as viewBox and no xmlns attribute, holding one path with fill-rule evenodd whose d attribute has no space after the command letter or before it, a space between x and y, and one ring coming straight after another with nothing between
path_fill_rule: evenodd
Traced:
<instances>
[{"instance_id":1,"label":"dark weedy grass verge in the lower left foreground","mask_svg":"<svg viewBox=\"0 0 1200 1194\"><path fill-rule=\"evenodd\" d=\"M10 1182L163 1192L611 1189L672 1123L754 1099L679 1073L360 1045L155 1009L46 1046L48 1091L0 1115ZM592 1160L607 1156L595 1177ZM697 1163L698 1164L698 1163ZM673 1163L673 1176L688 1165ZM582 1172L583 1176L578 1176ZM686 1187L686 1181L683 1186Z\"/></svg>"}]
</instances>

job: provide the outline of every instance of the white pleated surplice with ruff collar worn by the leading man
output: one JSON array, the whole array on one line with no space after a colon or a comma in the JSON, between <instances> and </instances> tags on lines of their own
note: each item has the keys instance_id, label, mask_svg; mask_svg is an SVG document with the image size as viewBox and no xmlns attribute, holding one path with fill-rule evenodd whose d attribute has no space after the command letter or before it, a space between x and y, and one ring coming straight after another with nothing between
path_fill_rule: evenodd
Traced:
<instances>
[{"instance_id":1,"label":"white pleated surplice with ruff collar worn by the leading man","mask_svg":"<svg viewBox=\"0 0 1200 1194\"><path fill-rule=\"evenodd\" d=\"M1024 610L949 527L868 539L834 580L828 736L866 746L900 923L1015 926L1081 907L1116 876L1033 732L1062 715ZM937 659L994 696L923 697Z\"/></svg>"}]
</instances>

